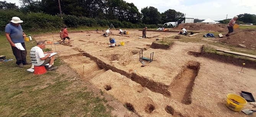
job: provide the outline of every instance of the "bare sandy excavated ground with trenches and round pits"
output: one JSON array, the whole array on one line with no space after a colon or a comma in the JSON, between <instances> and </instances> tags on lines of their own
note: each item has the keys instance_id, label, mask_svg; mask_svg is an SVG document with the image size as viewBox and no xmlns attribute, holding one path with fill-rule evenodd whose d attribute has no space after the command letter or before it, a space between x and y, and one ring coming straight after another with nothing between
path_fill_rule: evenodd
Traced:
<instances>
[{"instance_id":1,"label":"bare sandy excavated ground with trenches and round pits","mask_svg":"<svg viewBox=\"0 0 256 117\"><path fill-rule=\"evenodd\" d=\"M124 41L125 46L112 48L108 46L109 37L102 33L70 33L71 44L55 44L56 51L85 82L112 95L134 115L247 116L228 109L226 95L239 95L241 91L256 94L256 70L244 68L243 73L238 73L240 66L189 55L188 51L200 52L203 44L199 43L175 41L168 50L150 48L156 38L176 34L147 32L150 38L139 39L140 31L131 30L129 35L120 36L114 30L116 35L111 37L117 44ZM53 37L55 42L60 40L59 35ZM34 38L53 41L51 34ZM55 47L47 44L54 51ZM145 67L139 62L141 49L143 57L154 52L153 62L145 61ZM251 107L247 104L245 108Z\"/></svg>"}]
</instances>

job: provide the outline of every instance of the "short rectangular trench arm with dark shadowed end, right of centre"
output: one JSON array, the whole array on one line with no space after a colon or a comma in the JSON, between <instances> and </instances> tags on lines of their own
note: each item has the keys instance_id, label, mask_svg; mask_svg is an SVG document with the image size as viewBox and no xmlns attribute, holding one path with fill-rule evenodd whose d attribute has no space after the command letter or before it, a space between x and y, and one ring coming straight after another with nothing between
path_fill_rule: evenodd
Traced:
<instances>
[{"instance_id":1,"label":"short rectangular trench arm with dark shadowed end, right of centre","mask_svg":"<svg viewBox=\"0 0 256 117\"><path fill-rule=\"evenodd\" d=\"M191 104L191 92L200 68L200 63L189 61L170 85L171 97L183 104Z\"/></svg>"}]
</instances>

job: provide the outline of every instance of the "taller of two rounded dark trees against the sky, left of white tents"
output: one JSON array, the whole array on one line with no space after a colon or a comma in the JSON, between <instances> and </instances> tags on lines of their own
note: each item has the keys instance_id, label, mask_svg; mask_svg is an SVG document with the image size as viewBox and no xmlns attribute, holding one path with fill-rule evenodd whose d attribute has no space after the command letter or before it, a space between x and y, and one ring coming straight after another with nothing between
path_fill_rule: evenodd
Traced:
<instances>
[{"instance_id":1,"label":"taller of two rounded dark trees against the sky, left of white tents","mask_svg":"<svg viewBox=\"0 0 256 117\"><path fill-rule=\"evenodd\" d=\"M161 15L157 8L153 6L147 6L141 9L142 13L142 23L144 24L158 24L161 19Z\"/></svg>"}]
</instances>

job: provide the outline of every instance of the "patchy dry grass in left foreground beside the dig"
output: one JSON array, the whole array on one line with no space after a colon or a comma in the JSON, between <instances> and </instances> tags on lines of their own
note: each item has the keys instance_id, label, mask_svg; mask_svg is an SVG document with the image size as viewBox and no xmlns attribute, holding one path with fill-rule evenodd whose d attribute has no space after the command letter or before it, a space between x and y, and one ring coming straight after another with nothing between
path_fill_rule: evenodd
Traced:
<instances>
[{"instance_id":1,"label":"patchy dry grass in left foreground beside the dig","mask_svg":"<svg viewBox=\"0 0 256 117\"><path fill-rule=\"evenodd\" d=\"M35 41L26 42L27 58ZM14 60L0 63L0 115L7 116L110 116L111 107L100 93L86 87L72 70L57 58L54 65L64 71L34 75L19 68L5 36L0 36L0 55ZM65 71L66 70L66 71Z\"/></svg>"}]
</instances>

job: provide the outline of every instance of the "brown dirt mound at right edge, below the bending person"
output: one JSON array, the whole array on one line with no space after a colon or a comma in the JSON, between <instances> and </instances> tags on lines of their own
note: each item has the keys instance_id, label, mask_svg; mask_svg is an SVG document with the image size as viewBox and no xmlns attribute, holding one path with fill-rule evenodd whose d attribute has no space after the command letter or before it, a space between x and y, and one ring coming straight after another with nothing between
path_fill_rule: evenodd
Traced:
<instances>
[{"instance_id":1,"label":"brown dirt mound at right edge, below the bending person","mask_svg":"<svg viewBox=\"0 0 256 117\"><path fill-rule=\"evenodd\" d=\"M231 33L229 37L225 37L221 41L234 46L239 46L239 44L243 44L248 49L256 49L255 36L256 36L256 29L245 29L245 30L239 30L238 32L234 32L233 34Z\"/></svg>"}]
</instances>

